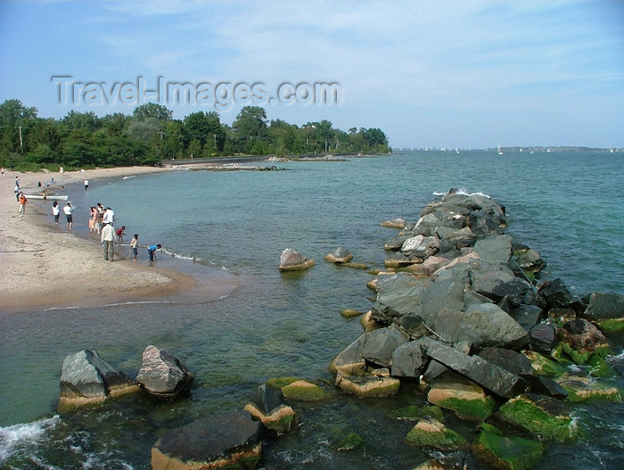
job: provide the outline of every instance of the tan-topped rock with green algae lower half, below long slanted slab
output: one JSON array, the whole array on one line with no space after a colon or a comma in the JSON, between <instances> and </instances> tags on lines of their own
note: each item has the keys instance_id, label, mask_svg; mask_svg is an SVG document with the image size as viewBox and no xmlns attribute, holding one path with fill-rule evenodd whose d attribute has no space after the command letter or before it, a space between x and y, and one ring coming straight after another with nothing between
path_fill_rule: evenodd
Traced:
<instances>
[{"instance_id":1,"label":"tan-topped rock with green algae lower half, below long slanted slab","mask_svg":"<svg viewBox=\"0 0 624 470\"><path fill-rule=\"evenodd\" d=\"M444 379L431 384L427 400L441 408L451 409L468 421L482 421L498 406L477 383L461 375L447 373Z\"/></svg>"}]
</instances>

